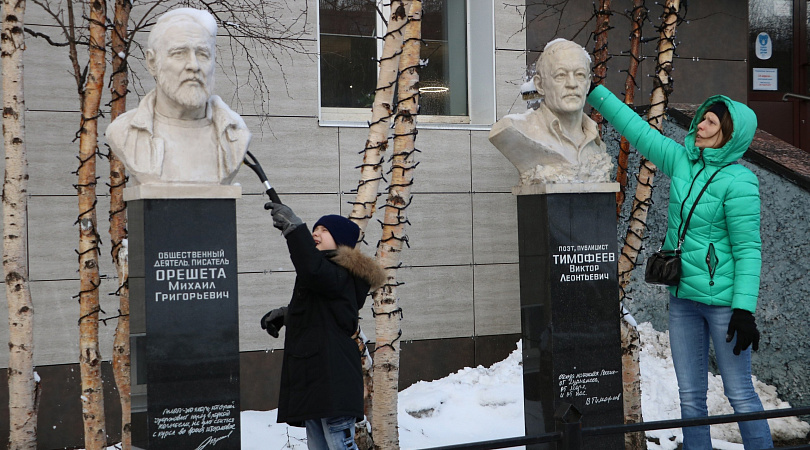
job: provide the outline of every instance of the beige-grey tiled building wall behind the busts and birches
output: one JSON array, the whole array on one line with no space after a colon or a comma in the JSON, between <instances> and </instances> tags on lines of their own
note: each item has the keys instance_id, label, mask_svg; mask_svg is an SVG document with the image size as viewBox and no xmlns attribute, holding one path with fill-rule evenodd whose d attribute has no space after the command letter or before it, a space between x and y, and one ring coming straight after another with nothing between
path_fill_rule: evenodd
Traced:
<instances>
[{"instance_id":1,"label":"beige-grey tiled building wall behind the busts and birches","mask_svg":"<svg viewBox=\"0 0 810 450\"><path fill-rule=\"evenodd\" d=\"M310 14L317 8L308 0ZM476 0L478 1L478 0ZM300 0L293 5L302 4ZM498 117L522 111L518 89L524 73L525 35L520 14L495 1L496 82ZM30 10L36 9L31 6ZM286 17L292 18L289 13ZM32 12L29 23L46 23ZM323 214L347 215L362 162L359 152L367 129L324 127L318 123L318 66L314 15L304 27L302 52L280 54L279 67L265 63L270 88L263 110L254 108L252 94L234 97L233 77L217 72L217 93L243 114L253 132L251 151L262 162L271 183L285 203L309 224ZM40 26L41 29L47 29ZM53 31L53 29L48 29ZM141 35L145 40L145 34ZM225 42L220 39L220 45ZM69 76L69 62L61 49L41 39L27 38L26 136L29 171L29 248L31 291L35 304L35 363L75 363L78 359L78 263L74 249L78 230L75 190L78 144L71 142L78 129L78 96ZM237 55L236 69L245 76ZM143 67L132 64L140 77L132 90L143 93L154 84ZM282 70L283 69L283 70ZM244 79L244 78L242 78ZM105 95L103 103L109 101ZM130 95L129 107L137 104ZM108 119L102 119L102 129ZM486 130L419 130L416 146L420 162L415 172L413 203L407 210L410 248L402 252L398 288L404 310L404 340L512 334L520 331L515 199L509 193L517 182L514 167L489 143ZM103 149L103 146L102 146ZM107 233L109 199L104 184L108 164L99 160L97 173L99 230L103 245L101 272L106 277L101 299L107 316L116 314L115 271L110 262ZM282 340L269 338L259 318L289 301L294 272L279 232L272 228L262 205L262 186L249 170L237 182L243 197L237 201L240 348L243 351L280 349ZM379 206L384 202L381 197ZM378 212L380 216L382 210ZM371 255L380 236L372 220L367 229ZM5 291L0 308L6 308ZM371 299L361 312L362 326L374 339ZM102 354L109 358L115 321L101 327ZM8 325L0 321L0 341L8 339ZM5 348L5 346L3 346ZM0 366L7 364L0 350Z\"/></svg>"}]
</instances>

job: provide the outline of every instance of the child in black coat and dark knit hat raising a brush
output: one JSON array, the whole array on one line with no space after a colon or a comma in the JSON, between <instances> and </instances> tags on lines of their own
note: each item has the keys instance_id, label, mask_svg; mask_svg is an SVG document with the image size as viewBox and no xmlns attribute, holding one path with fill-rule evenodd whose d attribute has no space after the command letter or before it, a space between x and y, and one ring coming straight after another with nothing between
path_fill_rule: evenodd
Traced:
<instances>
[{"instance_id":1,"label":"child in black coat and dark knit hat raising a brush","mask_svg":"<svg viewBox=\"0 0 810 450\"><path fill-rule=\"evenodd\" d=\"M356 449L363 375L352 335L366 295L383 284L385 272L354 248L360 229L349 219L323 216L310 234L288 206L265 208L272 209L273 226L287 239L296 273L289 306L261 320L274 337L287 326L278 422L305 426L310 449Z\"/></svg>"}]
</instances>

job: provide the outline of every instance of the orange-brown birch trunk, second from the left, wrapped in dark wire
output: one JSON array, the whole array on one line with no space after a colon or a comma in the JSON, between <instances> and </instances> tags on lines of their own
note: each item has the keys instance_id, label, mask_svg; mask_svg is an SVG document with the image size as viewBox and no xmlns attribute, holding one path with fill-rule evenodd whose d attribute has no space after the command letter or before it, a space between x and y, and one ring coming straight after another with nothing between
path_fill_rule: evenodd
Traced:
<instances>
[{"instance_id":1,"label":"orange-brown birch trunk, second from the left, wrapped in dark wire","mask_svg":"<svg viewBox=\"0 0 810 450\"><path fill-rule=\"evenodd\" d=\"M87 450L106 447L104 391L101 383L101 354L98 345L99 234L96 220L96 153L98 116L106 68L106 3L90 2L90 60L81 97L82 120L79 137L79 169L76 190L79 197L79 366L82 378L84 442Z\"/></svg>"}]
</instances>

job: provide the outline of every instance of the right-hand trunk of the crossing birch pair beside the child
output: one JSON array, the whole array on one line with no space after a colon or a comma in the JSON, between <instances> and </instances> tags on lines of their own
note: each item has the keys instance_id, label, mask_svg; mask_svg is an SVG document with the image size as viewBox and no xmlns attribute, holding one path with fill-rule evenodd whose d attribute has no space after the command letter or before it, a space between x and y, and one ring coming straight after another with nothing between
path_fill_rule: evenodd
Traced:
<instances>
[{"instance_id":1,"label":"right-hand trunk of the crossing birch pair beside the child","mask_svg":"<svg viewBox=\"0 0 810 450\"><path fill-rule=\"evenodd\" d=\"M411 184L416 139L416 115L419 104L419 52L421 46L422 2L412 3L403 37L399 60L397 113L394 120L394 153L391 159L391 183L385 204L383 231L377 246L377 259L386 268L385 286L374 292L376 348L372 429L374 447L399 448L397 395L399 387L399 344L402 335L402 309L398 305L396 270L401 262L402 244L407 240L405 209L411 201Z\"/></svg>"}]
</instances>

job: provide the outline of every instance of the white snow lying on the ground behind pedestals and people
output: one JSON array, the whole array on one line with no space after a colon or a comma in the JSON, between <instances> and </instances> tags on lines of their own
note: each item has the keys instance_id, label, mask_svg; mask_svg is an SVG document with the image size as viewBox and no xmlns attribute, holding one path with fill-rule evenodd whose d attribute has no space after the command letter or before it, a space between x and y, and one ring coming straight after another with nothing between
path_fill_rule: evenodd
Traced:
<instances>
[{"instance_id":1,"label":"white snow lying on the ground behind pedestals and people","mask_svg":"<svg viewBox=\"0 0 810 450\"><path fill-rule=\"evenodd\" d=\"M669 350L669 334L649 323L641 334L642 410L645 421L677 419L678 387ZM523 436L523 385L520 343L505 360L492 367L465 368L440 380L418 382L399 393L399 439L403 449L418 449L465 442ZM709 414L731 414L722 395L722 380L709 374ZM765 409L789 408L776 388L754 380ZM244 450L306 449L303 428L276 423L276 412L242 412ZM803 438L810 424L798 419L769 420L775 439ZM649 450L674 450L682 441L679 429L647 433L659 444ZM715 449L742 450L736 424L712 426ZM112 450L113 447L110 449Z\"/></svg>"}]
</instances>

